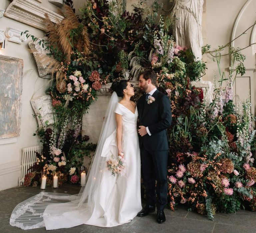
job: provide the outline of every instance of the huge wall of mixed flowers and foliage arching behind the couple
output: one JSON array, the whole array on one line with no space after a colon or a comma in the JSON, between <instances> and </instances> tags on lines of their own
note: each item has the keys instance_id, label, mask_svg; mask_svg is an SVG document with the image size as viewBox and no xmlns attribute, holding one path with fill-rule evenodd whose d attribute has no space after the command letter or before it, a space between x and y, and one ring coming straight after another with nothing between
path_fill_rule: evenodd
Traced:
<instances>
[{"instance_id":1,"label":"huge wall of mixed flowers and foliage arching behind the couple","mask_svg":"<svg viewBox=\"0 0 256 233\"><path fill-rule=\"evenodd\" d=\"M229 48L231 69L226 86L221 54L214 55L220 78L215 75L213 101L206 106L203 90L190 84L205 74L206 64L195 61L190 49L176 44L171 15L160 16L157 22L157 2L149 7L142 4L134 5L129 13L116 2L90 0L81 9L80 20L65 7L69 14L64 14L67 20L63 23L74 22L76 27L65 27L70 30L58 41L54 40L56 28L48 21L47 33L53 36L41 44L54 58L53 85L46 93L57 117L53 126L46 124L36 132L44 147L31 172L45 170L50 178L55 169L60 177L76 182L76 167L95 149L81 135L82 113L97 98L102 85L122 79L127 70L130 77L136 77L150 68L157 74L157 87L170 99L172 110L168 206L175 210L177 204L186 203L190 210L207 214L209 219L216 211L233 213L243 206L256 211L255 118L249 98L243 102L242 112L235 110L232 93L236 76L245 72L244 55ZM122 161L109 160L113 175L122 170L118 159ZM36 177L28 176L27 183L34 184Z\"/></svg>"}]
</instances>

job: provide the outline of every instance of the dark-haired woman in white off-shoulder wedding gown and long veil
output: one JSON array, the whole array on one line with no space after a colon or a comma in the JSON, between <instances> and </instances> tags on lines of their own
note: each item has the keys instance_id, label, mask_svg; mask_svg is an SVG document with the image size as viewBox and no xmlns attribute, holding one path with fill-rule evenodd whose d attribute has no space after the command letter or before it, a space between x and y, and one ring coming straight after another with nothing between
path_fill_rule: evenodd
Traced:
<instances>
[{"instance_id":1,"label":"dark-haired woman in white off-shoulder wedding gown and long veil","mask_svg":"<svg viewBox=\"0 0 256 233\"><path fill-rule=\"evenodd\" d=\"M10 225L21 229L46 230L81 224L113 227L130 222L142 209L140 196L140 150L138 111L133 85L114 82L85 187L78 195L41 192L18 204ZM120 100L121 97L122 99ZM106 161L124 155L124 174L112 175Z\"/></svg>"}]
</instances>

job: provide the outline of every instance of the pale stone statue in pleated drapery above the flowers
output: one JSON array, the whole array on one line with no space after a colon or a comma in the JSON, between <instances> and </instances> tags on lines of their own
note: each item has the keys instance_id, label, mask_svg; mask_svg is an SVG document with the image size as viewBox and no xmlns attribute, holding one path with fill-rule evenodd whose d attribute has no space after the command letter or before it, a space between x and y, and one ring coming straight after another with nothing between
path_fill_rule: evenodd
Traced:
<instances>
[{"instance_id":1,"label":"pale stone statue in pleated drapery above the flowers","mask_svg":"<svg viewBox=\"0 0 256 233\"><path fill-rule=\"evenodd\" d=\"M177 45L190 48L196 60L202 59L202 13L204 0L175 0Z\"/></svg>"}]
</instances>

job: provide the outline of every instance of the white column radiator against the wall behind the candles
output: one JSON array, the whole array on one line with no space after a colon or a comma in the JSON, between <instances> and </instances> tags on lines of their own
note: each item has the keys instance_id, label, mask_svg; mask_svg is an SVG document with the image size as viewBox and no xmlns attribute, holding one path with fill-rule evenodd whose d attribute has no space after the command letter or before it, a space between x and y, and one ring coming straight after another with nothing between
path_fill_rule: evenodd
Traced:
<instances>
[{"instance_id":1,"label":"white column radiator against the wall behind the candles","mask_svg":"<svg viewBox=\"0 0 256 233\"><path fill-rule=\"evenodd\" d=\"M43 145L30 146L22 149L21 177L19 177L19 186L23 184L25 175L29 167L36 162L36 153L41 154Z\"/></svg>"}]
</instances>

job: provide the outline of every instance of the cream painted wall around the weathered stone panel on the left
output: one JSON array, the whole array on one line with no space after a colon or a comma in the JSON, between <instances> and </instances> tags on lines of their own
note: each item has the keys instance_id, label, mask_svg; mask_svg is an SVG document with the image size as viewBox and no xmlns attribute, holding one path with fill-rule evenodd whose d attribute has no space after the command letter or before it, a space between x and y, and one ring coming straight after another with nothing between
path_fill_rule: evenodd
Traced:
<instances>
[{"instance_id":1,"label":"cream painted wall around the weathered stone panel on the left","mask_svg":"<svg viewBox=\"0 0 256 233\"><path fill-rule=\"evenodd\" d=\"M9 4L10 1L1 0L0 9L5 10ZM46 0L38 4L42 4L42 6L56 12L57 7ZM44 36L44 32L4 16L0 18L0 29L6 30L6 27L13 27L23 31L28 30L30 34L36 37ZM21 131L20 136L17 137L17 142L0 144L0 190L18 185L21 172L22 148L38 145L40 143L38 137L33 136L37 128L37 122L32 116L34 112L30 104L30 99L33 96L43 95L49 80L42 79L38 76L34 59L28 52L29 41L31 41L31 39L28 39L20 45L6 40L5 49L0 49L1 55L20 58L23 59L24 62ZM0 139L0 143L2 143L3 140L5 139Z\"/></svg>"}]
</instances>

